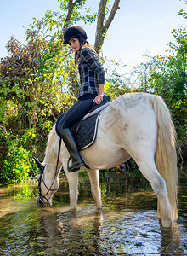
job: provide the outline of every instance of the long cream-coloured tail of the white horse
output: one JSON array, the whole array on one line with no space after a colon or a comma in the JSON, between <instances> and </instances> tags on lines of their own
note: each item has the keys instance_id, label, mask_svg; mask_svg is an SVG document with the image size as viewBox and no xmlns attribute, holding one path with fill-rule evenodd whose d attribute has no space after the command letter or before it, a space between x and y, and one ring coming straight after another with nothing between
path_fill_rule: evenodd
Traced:
<instances>
[{"instance_id":1,"label":"long cream-coloured tail of the white horse","mask_svg":"<svg viewBox=\"0 0 187 256\"><path fill-rule=\"evenodd\" d=\"M172 207L172 218L178 218L178 168L176 153L176 131L171 114L161 96L151 96L152 106L156 113L157 143L156 168L167 184L167 193ZM158 201L158 218L161 218L161 209Z\"/></svg>"}]
</instances>

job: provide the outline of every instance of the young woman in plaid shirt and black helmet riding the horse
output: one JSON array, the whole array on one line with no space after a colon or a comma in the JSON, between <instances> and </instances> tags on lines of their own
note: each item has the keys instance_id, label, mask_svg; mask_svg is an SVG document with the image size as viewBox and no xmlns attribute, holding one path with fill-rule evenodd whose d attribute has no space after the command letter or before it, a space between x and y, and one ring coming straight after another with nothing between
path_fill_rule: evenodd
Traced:
<instances>
[{"instance_id":1,"label":"young woman in plaid shirt and black helmet riding the horse","mask_svg":"<svg viewBox=\"0 0 187 256\"><path fill-rule=\"evenodd\" d=\"M105 72L87 38L81 26L71 26L64 34L63 44L69 44L75 50L75 64L78 64L81 84L78 101L65 112L57 127L60 137L71 154L72 165L68 166L68 172L76 172L84 165L71 135L71 125L82 119L93 103L100 104L104 96Z\"/></svg>"}]
</instances>

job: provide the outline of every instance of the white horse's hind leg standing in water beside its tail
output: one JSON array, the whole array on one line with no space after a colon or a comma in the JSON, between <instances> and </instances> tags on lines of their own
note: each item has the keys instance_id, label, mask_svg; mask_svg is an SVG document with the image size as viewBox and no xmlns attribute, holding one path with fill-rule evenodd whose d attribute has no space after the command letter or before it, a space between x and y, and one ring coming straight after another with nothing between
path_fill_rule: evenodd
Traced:
<instances>
[{"instance_id":1,"label":"white horse's hind leg standing in water beside its tail","mask_svg":"<svg viewBox=\"0 0 187 256\"><path fill-rule=\"evenodd\" d=\"M156 193L161 207L161 223L163 227L171 227L172 213L171 206L167 195L166 182L157 171L154 159L146 158L146 160L136 161L140 171L144 177L150 182L152 189Z\"/></svg>"}]
</instances>

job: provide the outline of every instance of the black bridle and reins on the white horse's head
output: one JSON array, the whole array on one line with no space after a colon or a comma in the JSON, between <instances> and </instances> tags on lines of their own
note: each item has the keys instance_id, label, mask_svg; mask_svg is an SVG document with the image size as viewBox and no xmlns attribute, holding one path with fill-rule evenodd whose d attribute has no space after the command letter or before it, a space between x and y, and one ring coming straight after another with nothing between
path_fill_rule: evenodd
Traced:
<instances>
[{"instance_id":1,"label":"black bridle and reins on the white horse's head","mask_svg":"<svg viewBox=\"0 0 187 256\"><path fill-rule=\"evenodd\" d=\"M44 200L46 200L47 203L50 204L50 202L48 201L48 198L46 196L48 195L48 193L50 191L54 192L54 191L57 191L59 189L59 188L57 188L57 189L51 189L51 188L54 185L54 181L55 181L55 179L57 177L57 173L58 173L57 171L58 171L58 165L59 165L59 154L60 154L60 148L61 148L61 141L62 141L62 139L59 138L59 151L58 151L58 157L57 157L56 168L55 168L55 173L54 173L54 180L53 180L53 183L51 183L49 188L46 185L45 181L43 180L43 174L44 174L45 166L42 166L42 164L36 158L34 158L34 160L37 163L37 166L40 169L40 177L38 178L38 186L37 186L37 189L38 189L38 200L37 200L37 202L38 203L40 203L40 202L44 203ZM42 195L41 183L43 183L45 188L48 189L48 191L45 195ZM60 185L59 185L59 187L60 187Z\"/></svg>"}]
</instances>

